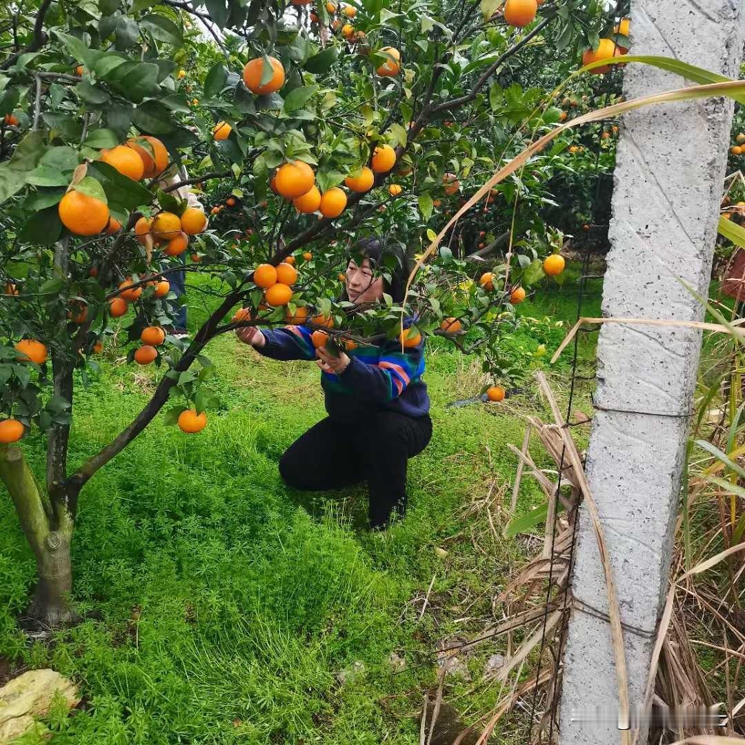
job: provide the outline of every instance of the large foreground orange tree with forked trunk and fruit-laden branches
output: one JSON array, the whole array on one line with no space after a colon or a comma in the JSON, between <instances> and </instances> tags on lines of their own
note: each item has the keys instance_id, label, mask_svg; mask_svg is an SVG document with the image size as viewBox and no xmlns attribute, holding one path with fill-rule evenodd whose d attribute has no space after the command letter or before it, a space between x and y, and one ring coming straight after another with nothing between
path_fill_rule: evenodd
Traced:
<instances>
[{"instance_id":1,"label":"large foreground orange tree with forked trunk and fruit-laden branches","mask_svg":"<svg viewBox=\"0 0 745 745\"><path fill-rule=\"evenodd\" d=\"M451 248L461 235L443 244L405 308L390 297L376 308L340 302L338 272L360 235L421 250L457 200L559 121L557 107L542 105L544 90L510 87L505 70L531 45L578 58L612 31L600 5L4 8L0 478L37 559L31 615L50 626L74 618L69 547L89 478L169 399L174 425L206 425L201 384L212 363L203 352L215 336L289 320L349 349L396 337L405 312L416 317L411 337L444 335L504 375L500 343L517 323L514 305L563 267L560 235L530 210L516 223L516 250L478 282ZM535 198L538 160L490 200ZM209 223L187 206L185 186L203 197ZM478 226L480 214L469 221ZM165 331L181 302L168 278L185 256L186 270L211 276L220 295L190 340ZM97 373L101 348L122 338L130 363L159 367L155 392L112 442L71 468L75 389ZM31 428L45 434L43 483L15 444Z\"/></svg>"}]
</instances>

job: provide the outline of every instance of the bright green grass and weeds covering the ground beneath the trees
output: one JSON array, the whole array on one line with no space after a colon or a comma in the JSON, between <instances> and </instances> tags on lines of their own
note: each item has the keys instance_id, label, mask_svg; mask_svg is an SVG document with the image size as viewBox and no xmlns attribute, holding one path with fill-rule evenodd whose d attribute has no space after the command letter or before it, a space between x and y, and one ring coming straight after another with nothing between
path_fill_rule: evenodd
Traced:
<instances>
[{"instance_id":1,"label":"bright green grass and weeds covering the ground beneath the trees","mask_svg":"<svg viewBox=\"0 0 745 745\"><path fill-rule=\"evenodd\" d=\"M205 308L197 293L191 302L196 323ZM557 299L555 317L574 320L569 306ZM209 355L221 408L206 430L187 437L159 417L86 486L73 560L75 600L91 613L53 644L28 646L16 630L34 563L0 498L0 654L80 682L86 707L54 718L55 744L418 742L434 644L483 630L495 590L522 557L515 540L473 542L484 516L462 516L492 480L504 492L498 507L509 500L507 443L521 443L522 423L507 406L446 409L478 392L476 375L434 346L434 437L410 463L410 510L371 534L364 489L308 497L279 479L279 455L323 416L314 366L264 360L232 336ZM115 349L104 354L101 379L75 402L73 467L130 421L151 386L149 370L121 364ZM513 405L533 407L530 396ZM39 473L42 444L25 443ZM520 510L540 499L524 481ZM495 519L504 526L504 510ZM502 643L469 660L472 682L448 684L466 720L495 701L496 687L478 677ZM394 651L405 671L390 667ZM355 662L364 674L340 685L335 673ZM522 740L504 731L500 741Z\"/></svg>"}]
</instances>

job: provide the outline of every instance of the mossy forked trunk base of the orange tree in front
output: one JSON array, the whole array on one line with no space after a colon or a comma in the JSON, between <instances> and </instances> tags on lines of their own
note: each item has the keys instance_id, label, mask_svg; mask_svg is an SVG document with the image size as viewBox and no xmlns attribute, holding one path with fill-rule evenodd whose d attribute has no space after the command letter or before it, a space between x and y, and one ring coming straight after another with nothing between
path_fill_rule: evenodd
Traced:
<instances>
[{"instance_id":1,"label":"mossy forked trunk base of the orange tree in front","mask_svg":"<svg viewBox=\"0 0 745 745\"><path fill-rule=\"evenodd\" d=\"M21 448L0 446L0 481L16 506L23 532L37 558L37 586L28 615L45 627L77 621L70 603L70 542L74 523L63 504L51 502L39 489Z\"/></svg>"}]
</instances>

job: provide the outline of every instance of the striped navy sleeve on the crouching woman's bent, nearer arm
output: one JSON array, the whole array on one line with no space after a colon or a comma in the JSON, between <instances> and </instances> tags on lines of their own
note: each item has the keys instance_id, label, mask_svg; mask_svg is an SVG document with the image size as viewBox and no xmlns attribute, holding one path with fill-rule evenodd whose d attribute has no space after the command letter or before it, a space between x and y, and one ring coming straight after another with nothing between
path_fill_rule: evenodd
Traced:
<instances>
[{"instance_id":1,"label":"striped navy sleeve on the crouching woman's bent, nearer arm","mask_svg":"<svg viewBox=\"0 0 745 745\"><path fill-rule=\"evenodd\" d=\"M387 343L375 364L353 357L340 381L361 398L385 403L398 398L424 373L424 341L402 352L398 342Z\"/></svg>"}]
</instances>

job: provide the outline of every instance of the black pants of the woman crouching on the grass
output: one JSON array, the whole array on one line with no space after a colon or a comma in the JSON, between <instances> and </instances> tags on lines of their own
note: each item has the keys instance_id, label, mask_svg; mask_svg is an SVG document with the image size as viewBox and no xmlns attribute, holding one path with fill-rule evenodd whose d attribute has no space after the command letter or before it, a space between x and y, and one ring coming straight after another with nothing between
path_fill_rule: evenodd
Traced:
<instances>
[{"instance_id":1,"label":"black pants of the woman crouching on the grass","mask_svg":"<svg viewBox=\"0 0 745 745\"><path fill-rule=\"evenodd\" d=\"M326 417L285 451L279 473L289 486L313 492L367 481L370 527L388 524L406 509L406 465L432 436L429 416L374 413L357 425Z\"/></svg>"}]
</instances>

